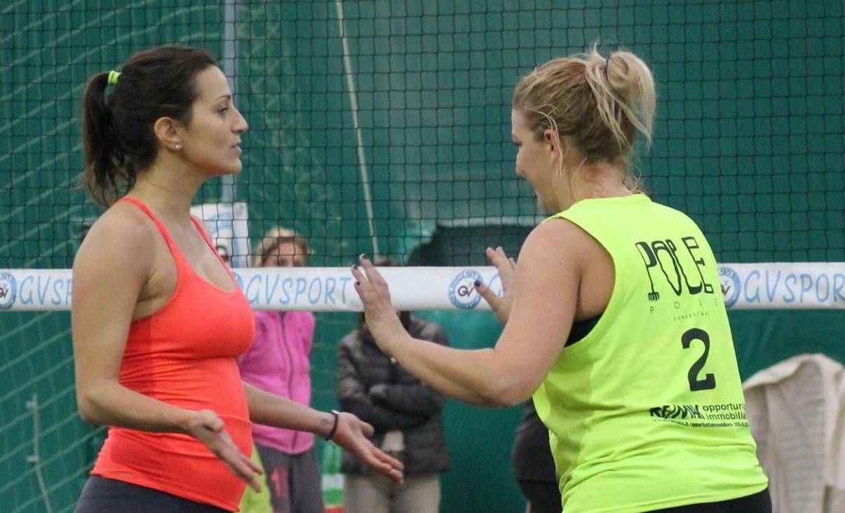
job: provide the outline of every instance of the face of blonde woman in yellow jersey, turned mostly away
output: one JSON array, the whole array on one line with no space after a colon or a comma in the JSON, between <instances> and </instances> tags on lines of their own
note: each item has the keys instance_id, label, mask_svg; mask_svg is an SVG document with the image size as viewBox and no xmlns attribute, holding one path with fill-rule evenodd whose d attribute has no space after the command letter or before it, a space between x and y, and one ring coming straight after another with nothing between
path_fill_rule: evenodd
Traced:
<instances>
[{"instance_id":1,"label":"face of blonde woman in yellow jersey, turned mostly away","mask_svg":"<svg viewBox=\"0 0 845 513\"><path fill-rule=\"evenodd\" d=\"M546 139L537 140L519 109L510 112L510 136L516 145L516 174L531 183L543 210L558 211L553 178L557 172L557 153Z\"/></svg>"}]
</instances>

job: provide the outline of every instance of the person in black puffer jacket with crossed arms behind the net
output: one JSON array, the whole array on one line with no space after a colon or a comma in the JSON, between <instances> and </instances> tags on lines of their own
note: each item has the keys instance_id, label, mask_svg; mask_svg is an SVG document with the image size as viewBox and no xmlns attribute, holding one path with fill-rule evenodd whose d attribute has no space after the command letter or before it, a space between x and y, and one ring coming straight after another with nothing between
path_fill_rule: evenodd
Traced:
<instances>
[{"instance_id":1,"label":"person in black puffer jacket with crossed arms behind the net","mask_svg":"<svg viewBox=\"0 0 845 513\"><path fill-rule=\"evenodd\" d=\"M381 260L376 265L397 265ZM402 324L417 338L448 345L444 330L409 312ZM449 467L441 412L445 399L408 374L379 350L364 324L346 335L338 347L337 396L341 408L371 423L373 445L405 465L405 483L391 483L359 461L343 456L343 506L346 513L436 513L439 472Z\"/></svg>"}]
</instances>

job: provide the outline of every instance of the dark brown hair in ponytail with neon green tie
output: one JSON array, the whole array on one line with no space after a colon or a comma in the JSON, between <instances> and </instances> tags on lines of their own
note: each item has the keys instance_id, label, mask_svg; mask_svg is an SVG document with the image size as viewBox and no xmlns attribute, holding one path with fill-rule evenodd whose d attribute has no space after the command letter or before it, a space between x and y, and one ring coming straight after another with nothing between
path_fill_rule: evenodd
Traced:
<instances>
[{"instance_id":1,"label":"dark brown hair in ponytail with neon green tie","mask_svg":"<svg viewBox=\"0 0 845 513\"><path fill-rule=\"evenodd\" d=\"M199 96L196 75L216 66L200 48L160 46L132 56L106 96L108 72L93 75L82 99L85 172L80 185L109 206L132 188L158 155L153 126L172 117L188 126Z\"/></svg>"}]
</instances>

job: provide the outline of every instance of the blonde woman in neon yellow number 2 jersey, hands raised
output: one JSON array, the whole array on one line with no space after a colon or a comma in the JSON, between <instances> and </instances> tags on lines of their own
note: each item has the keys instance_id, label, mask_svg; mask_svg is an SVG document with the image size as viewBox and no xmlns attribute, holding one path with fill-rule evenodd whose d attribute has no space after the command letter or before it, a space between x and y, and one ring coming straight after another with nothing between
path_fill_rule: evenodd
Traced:
<instances>
[{"instance_id":1,"label":"blonde woman in neon yellow number 2 jersey, hands raised","mask_svg":"<svg viewBox=\"0 0 845 513\"><path fill-rule=\"evenodd\" d=\"M362 256L352 269L379 347L447 396L507 407L533 395L567 513L771 511L716 259L695 222L630 174L651 142L651 71L630 52L554 59L516 85L516 173L558 212L519 265L488 249L503 297L495 347L412 339Z\"/></svg>"}]
</instances>

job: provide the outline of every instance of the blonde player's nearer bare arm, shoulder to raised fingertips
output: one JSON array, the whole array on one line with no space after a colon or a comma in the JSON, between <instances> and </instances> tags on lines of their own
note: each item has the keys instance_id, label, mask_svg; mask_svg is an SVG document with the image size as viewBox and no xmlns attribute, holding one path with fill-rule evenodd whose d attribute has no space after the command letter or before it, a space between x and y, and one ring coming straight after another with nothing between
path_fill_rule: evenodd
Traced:
<instances>
[{"instance_id":1,"label":"blonde player's nearer bare arm, shoulder to raised fingertips","mask_svg":"<svg viewBox=\"0 0 845 513\"><path fill-rule=\"evenodd\" d=\"M532 395L564 347L589 236L567 221L543 223L523 245L515 297L495 347L461 350L413 339L390 306L390 292L366 259L353 269L367 324L379 347L446 396L479 406L512 406Z\"/></svg>"}]
</instances>

